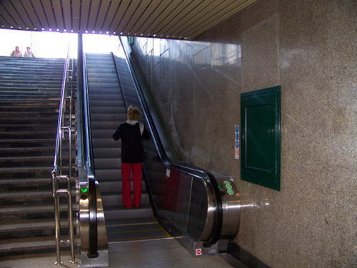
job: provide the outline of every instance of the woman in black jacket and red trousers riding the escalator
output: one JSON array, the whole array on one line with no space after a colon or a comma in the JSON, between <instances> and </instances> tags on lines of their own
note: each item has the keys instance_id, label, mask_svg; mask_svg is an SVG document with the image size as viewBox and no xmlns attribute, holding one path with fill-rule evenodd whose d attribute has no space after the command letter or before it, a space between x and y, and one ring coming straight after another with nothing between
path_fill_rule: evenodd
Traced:
<instances>
[{"instance_id":1,"label":"woman in black jacket and red trousers riding the escalator","mask_svg":"<svg viewBox=\"0 0 357 268\"><path fill-rule=\"evenodd\" d=\"M150 140L151 135L143 123L139 122L141 110L129 105L125 123L113 134L114 140L121 139L121 177L123 180L124 207L140 207L141 204L141 177L144 162L144 147L142 141ZM131 201L130 175L132 172L134 186L134 200Z\"/></svg>"}]
</instances>

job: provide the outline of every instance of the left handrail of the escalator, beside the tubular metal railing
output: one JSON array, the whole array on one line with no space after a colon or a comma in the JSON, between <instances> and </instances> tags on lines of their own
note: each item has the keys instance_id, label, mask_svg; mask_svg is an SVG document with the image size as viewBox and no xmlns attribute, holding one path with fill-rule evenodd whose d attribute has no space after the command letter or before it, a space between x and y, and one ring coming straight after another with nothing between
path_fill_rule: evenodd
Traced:
<instances>
[{"instance_id":1,"label":"left handrail of the escalator, beside the tubular metal railing","mask_svg":"<svg viewBox=\"0 0 357 268\"><path fill-rule=\"evenodd\" d=\"M91 144L91 120L89 113L89 94L87 83L87 68L86 68L86 54L83 53L83 128L85 138L82 139L84 145L84 169L88 176L89 187L89 255L88 257L98 257L98 233L97 233L97 217L96 217L96 182L94 177L94 161L93 150ZM83 134L84 134L83 133Z\"/></svg>"}]
</instances>

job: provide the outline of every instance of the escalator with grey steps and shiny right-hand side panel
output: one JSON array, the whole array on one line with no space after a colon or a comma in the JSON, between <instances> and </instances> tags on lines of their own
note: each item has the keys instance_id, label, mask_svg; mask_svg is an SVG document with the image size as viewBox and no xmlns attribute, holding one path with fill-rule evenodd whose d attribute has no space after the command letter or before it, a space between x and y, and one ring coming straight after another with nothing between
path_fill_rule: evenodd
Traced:
<instances>
[{"instance_id":1,"label":"escalator with grey steps and shiny right-hand side panel","mask_svg":"<svg viewBox=\"0 0 357 268\"><path fill-rule=\"evenodd\" d=\"M227 252L240 220L233 179L193 167L178 157L129 43L126 38L121 38L121 43L120 56L86 54L83 61L93 158L89 168L99 185L109 242L145 239L128 234L136 220L143 229L136 225L134 232L149 231L151 238L175 237L193 256ZM152 139L143 142L146 160L141 207L124 210L120 142L114 142L111 135L125 122L130 104L143 112L141 122Z\"/></svg>"}]
</instances>

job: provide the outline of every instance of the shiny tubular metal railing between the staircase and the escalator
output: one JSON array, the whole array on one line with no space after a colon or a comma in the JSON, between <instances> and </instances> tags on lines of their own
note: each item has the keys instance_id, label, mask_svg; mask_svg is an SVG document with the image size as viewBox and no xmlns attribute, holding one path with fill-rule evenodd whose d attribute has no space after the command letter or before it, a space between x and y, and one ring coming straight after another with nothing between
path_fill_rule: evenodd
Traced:
<instances>
[{"instance_id":1,"label":"shiny tubular metal railing between the staircase and the escalator","mask_svg":"<svg viewBox=\"0 0 357 268\"><path fill-rule=\"evenodd\" d=\"M55 264L62 264L60 244L70 244L71 247L71 263L76 262L74 257L74 224L73 224L73 208L72 208L72 194L71 194L71 180L72 177L72 158L71 158L71 131L72 131L72 96L73 96L73 78L74 78L74 59L69 59L67 53L66 62L64 65L64 77L61 89L61 102L59 105L59 120L57 123L56 148L54 155L54 170L51 172L52 176L52 196L54 197L54 215L55 215L55 232L56 232L56 255L57 262ZM69 101L69 108L66 109L66 102ZM65 118L68 115L68 125L65 125ZM66 135L68 133L68 135ZM69 143L69 165L68 173L64 174L63 163L63 140L68 139ZM67 188L60 189L59 181L66 180ZM68 220L69 220L69 239L61 240L61 226L60 226L60 205L59 195L66 195L68 197Z\"/></svg>"}]
</instances>

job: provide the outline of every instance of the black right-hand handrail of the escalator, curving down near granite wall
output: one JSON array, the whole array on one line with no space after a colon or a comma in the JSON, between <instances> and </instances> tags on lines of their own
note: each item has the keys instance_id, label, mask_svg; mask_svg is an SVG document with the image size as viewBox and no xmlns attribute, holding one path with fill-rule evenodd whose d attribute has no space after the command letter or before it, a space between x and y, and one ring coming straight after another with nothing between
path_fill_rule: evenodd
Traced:
<instances>
[{"instance_id":1,"label":"black right-hand handrail of the escalator, curving down near granite wall","mask_svg":"<svg viewBox=\"0 0 357 268\"><path fill-rule=\"evenodd\" d=\"M149 128L151 130L151 133L154 136L154 141L156 143L156 146L159 150L159 156L164 163L169 168L174 168L178 171L185 172L190 175L195 175L199 177L203 177L206 179L206 182L210 183L213 192L215 194L215 199L216 199L216 222L213 224L213 234L211 237L208 239L208 241L205 242L205 247L210 247L213 244L216 244L218 242L219 237L221 236L221 230L222 230L222 225L223 225L223 208L222 208L222 199L221 199L221 194L218 188L218 183L216 181L216 178L209 172L208 170L203 170L201 168L196 168L190 165L187 165L186 163L174 163L171 162L170 158L167 156L166 151L164 150L164 145L161 143L161 139L159 136L158 131L156 130L154 119L151 116L151 113L149 111L149 106L147 105L145 98L144 98L144 93L141 91L141 86L139 83L139 79L136 76L136 73L134 72L134 66L132 66L132 58L127 50L126 46L124 46L124 41L122 37L119 37L121 41L121 45L124 48L124 53L126 54L126 63L128 64L130 71L131 71L131 76L134 80L135 86L136 86L136 91L139 94L139 99L141 101L142 108L145 111L146 118L149 123Z\"/></svg>"}]
</instances>

